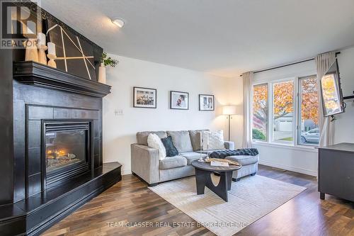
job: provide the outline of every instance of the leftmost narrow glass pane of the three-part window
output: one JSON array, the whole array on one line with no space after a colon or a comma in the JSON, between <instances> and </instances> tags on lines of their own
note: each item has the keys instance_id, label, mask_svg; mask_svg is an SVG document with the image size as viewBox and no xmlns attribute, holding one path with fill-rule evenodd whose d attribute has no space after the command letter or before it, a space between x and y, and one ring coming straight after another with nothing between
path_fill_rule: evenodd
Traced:
<instances>
[{"instance_id":1,"label":"leftmost narrow glass pane of the three-part window","mask_svg":"<svg viewBox=\"0 0 354 236\"><path fill-rule=\"evenodd\" d=\"M253 86L253 140L266 141L268 136L268 85Z\"/></svg>"}]
</instances>

